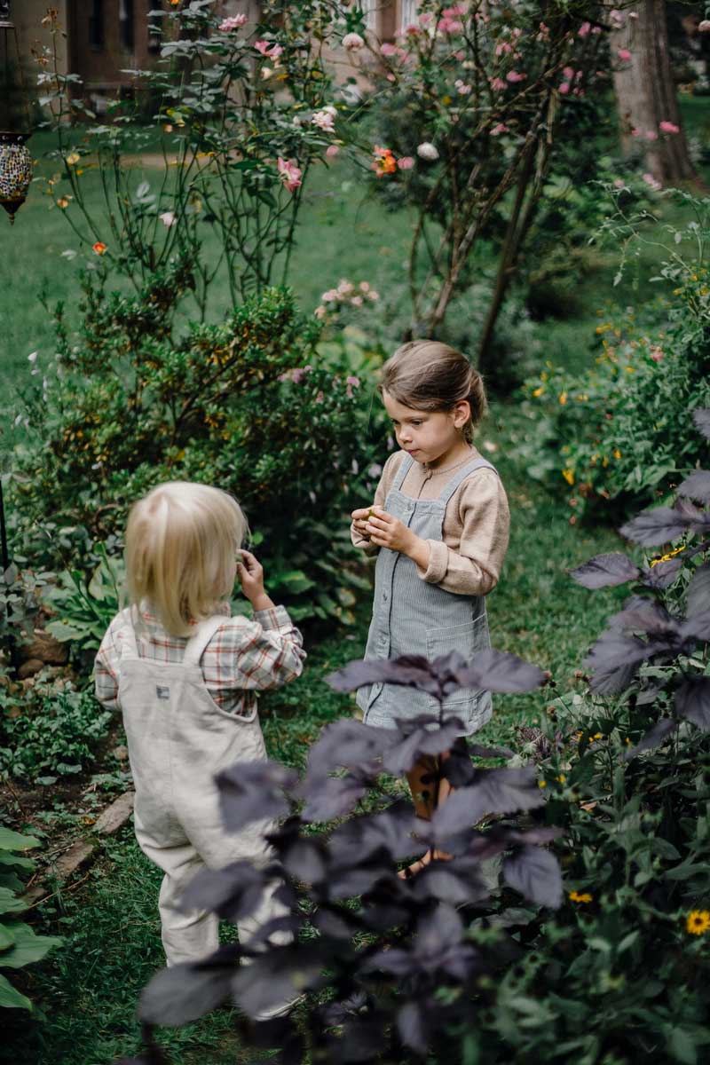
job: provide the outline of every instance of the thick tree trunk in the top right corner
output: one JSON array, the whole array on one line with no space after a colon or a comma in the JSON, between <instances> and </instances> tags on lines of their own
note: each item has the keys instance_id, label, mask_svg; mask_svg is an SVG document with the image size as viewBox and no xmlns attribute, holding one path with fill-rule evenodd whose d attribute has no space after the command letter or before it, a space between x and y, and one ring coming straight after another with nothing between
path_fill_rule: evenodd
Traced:
<instances>
[{"instance_id":1,"label":"thick tree trunk in the top right corner","mask_svg":"<svg viewBox=\"0 0 710 1065\"><path fill-rule=\"evenodd\" d=\"M680 120L663 0L639 0L631 11L610 15L610 21L624 153L643 153L647 173L661 185L691 183L703 187ZM626 58L628 52L630 59ZM670 122L678 132L663 131L661 122Z\"/></svg>"}]
</instances>

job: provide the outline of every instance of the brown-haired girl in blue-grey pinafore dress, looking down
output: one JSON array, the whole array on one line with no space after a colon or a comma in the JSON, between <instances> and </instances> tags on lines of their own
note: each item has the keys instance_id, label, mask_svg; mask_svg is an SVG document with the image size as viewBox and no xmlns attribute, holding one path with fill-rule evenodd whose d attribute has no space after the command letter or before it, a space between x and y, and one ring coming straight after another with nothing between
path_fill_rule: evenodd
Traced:
<instances>
[{"instance_id":1,"label":"brown-haired girl in blue-grey pinafore dress, looking down","mask_svg":"<svg viewBox=\"0 0 710 1065\"><path fill-rule=\"evenodd\" d=\"M352 512L353 544L378 556L365 657L458 651L468 659L490 646L484 596L498 580L509 529L500 478L473 445L486 409L483 382L452 347L416 340L385 362L380 392L401 449L387 459L373 506ZM385 728L439 709L424 692L381 684L361 688L358 703L365 723ZM463 722L462 736L491 714L489 692L459 690L444 702L445 717ZM449 791L439 770L427 758L409 774L420 817Z\"/></svg>"}]
</instances>

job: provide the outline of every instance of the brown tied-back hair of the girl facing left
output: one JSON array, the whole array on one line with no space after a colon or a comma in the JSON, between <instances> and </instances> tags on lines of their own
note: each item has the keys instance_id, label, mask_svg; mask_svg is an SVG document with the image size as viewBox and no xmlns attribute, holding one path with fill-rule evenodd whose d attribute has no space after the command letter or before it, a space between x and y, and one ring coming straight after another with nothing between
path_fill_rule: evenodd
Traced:
<instances>
[{"instance_id":1,"label":"brown tied-back hair of the girl facing left","mask_svg":"<svg viewBox=\"0 0 710 1065\"><path fill-rule=\"evenodd\" d=\"M483 378L461 351L435 340L413 340L398 347L382 367L380 392L414 410L451 410L463 399L470 417L463 427L470 443L488 403Z\"/></svg>"}]
</instances>

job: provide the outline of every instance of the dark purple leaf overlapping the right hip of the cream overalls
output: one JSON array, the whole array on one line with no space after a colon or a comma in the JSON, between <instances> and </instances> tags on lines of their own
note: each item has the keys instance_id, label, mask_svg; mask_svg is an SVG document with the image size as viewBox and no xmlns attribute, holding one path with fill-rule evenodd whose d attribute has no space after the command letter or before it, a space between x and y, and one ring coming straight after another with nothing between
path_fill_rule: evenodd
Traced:
<instances>
[{"instance_id":1,"label":"dark purple leaf overlapping the right hip of the cream overalls","mask_svg":"<svg viewBox=\"0 0 710 1065\"><path fill-rule=\"evenodd\" d=\"M228 832L241 832L253 821L268 821L287 814L284 796L298 774L277 761L237 761L216 777L219 804Z\"/></svg>"}]
</instances>

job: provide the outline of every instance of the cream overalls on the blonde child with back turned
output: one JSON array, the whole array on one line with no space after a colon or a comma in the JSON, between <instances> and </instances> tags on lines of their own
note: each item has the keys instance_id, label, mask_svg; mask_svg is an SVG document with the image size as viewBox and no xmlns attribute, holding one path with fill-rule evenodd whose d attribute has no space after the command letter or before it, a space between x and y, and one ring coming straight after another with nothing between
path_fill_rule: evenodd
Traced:
<instances>
[{"instance_id":1,"label":"cream overalls on the blonde child with back turned","mask_svg":"<svg viewBox=\"0 0 710 1065\"><path fill-rule=\"evenodd\" d=\"M141 849L164 870L160 892L163 946L168 965L195 961L218 947L218 920L207 912L182 913L186 885L205 866L219 869L248 859L269 858L265 822L238 833L225 831L214 783L236 761L266 758L257 710L249 718L228 714L212 699L200 669L208 643L224 616L201 622L185 645L182 662L141 658L126 611L118 705L123 714L135 784L135 835ZM265 894L259 911L240 920L245 944L284 907Z\"/></svg>"}]
</instances>

